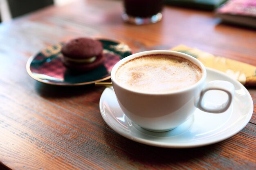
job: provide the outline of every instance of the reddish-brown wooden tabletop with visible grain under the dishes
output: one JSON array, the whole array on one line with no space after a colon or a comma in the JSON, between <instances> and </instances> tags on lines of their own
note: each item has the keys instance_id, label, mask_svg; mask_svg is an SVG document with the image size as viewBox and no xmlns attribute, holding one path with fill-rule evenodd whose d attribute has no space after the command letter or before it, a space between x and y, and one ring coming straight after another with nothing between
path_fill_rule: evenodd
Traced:
<instances>
[{"instance_id":1,"label":"reddish-brown wooden tabletop with visible grain under the dishes","mask_svg":"<svg viewBox=\"0 0 256 170\"><path fill-rule=\"evenodd\" d=\"M121 1L80 0L0 25L0 169L255 169L255 110L249 124L225 141L157 148L107 126L99 111L104 87L50 86L29 77L31 55L78 36L121 40L134 52L185 44L256 66L256 31L221 24L212 12L165 7L161 22L144 26L124 23L121 13ZM248 90L256 108L256 90Z\"/></svg>"}]
</instances>

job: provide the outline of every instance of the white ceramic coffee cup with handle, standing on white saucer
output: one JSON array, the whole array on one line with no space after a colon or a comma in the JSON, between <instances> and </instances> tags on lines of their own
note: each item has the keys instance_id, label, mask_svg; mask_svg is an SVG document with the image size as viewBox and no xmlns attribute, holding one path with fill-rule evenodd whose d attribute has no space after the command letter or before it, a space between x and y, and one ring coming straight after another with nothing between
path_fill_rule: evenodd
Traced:
<instances>
[{"instance_id":1,"label":"white ceramic coffee cup with handle, standing on white saucer","mask_svg":"<svg viewBox=\"0 0 256 170\"><path fill-rule=\"evenodd\" d=\"M202 77L195 84L179 90L169 92L141 92L122 86L115 75L118 68L127 61L151 54L175 55L190 60L202 70ZM132 54L119 61L112 68L112 85L117 96L119 106L124 114L135 124L147 130L162 132L176 128L188 120L196 108L209 113L225 112L234 96L234 85L227 81L212 81L205 83L207 76L204 65L196 58L166 50L144 51ZM210 90L224 91L228 95L227 102L217 105L216 108L207 108L203 99L204 94Z\"/></svg>"}]
</instances>

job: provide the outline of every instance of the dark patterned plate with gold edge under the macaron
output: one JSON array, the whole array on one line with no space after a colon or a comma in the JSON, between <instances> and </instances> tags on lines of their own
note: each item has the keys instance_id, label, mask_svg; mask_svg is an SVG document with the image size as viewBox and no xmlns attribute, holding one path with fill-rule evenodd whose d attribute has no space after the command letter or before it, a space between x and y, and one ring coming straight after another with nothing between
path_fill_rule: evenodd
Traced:
<instances>
[{"instance_id":1,"label":"dark patterned plate with gold edge under the macaron","mask_svg":"<svg viewBox=\"0 0 256 170\"><path fill-rule=\"evenodd\" d=\"M27 72L39 82L61 86L93 84L110 78L112 67L124 57L131 55L128 45L106 39L98 39L103 44L105 62L86 73L74 73L61 62L61 47L64 43L48 46L27 61Z\"/></svg>"}]
</instances>

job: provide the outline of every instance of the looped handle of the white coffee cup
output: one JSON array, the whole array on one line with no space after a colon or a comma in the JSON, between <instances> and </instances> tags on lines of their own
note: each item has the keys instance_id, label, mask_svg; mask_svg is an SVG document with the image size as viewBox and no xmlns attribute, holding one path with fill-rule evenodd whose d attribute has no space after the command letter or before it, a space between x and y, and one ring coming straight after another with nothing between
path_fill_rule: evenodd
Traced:
<instances>
[{"instance_id":1,"label":"looped handle of the white coffee cup","mask_svg":"<svg viewBox=\"0 0 256 170\"><path fill-rule=\"evenodd\" d=\"M204 94L210 90L219 90L227 93L228 95L227 102L220 106L216 106L215 108L207 108L206 106L204 106L204 103L207 102L203 99ZM215 81L209 82L201 91L200 99L198 102L198 108L204 112L223 113L229 108L232 102L232 99L234 97L234 94L235 94L235 87L230 82L222 81L222 80L215 80Z\"/></svg>"}]
</instances>

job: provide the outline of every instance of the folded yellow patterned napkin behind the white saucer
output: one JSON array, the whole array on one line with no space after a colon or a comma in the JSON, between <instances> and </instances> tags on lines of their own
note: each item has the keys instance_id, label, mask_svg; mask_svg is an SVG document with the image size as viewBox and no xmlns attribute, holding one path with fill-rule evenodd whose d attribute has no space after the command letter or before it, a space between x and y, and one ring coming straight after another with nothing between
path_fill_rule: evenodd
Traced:
<instances>
[{"instance_id":1,"label":"folded yellow patterned napkin behind the white saucer","mask_svg":"<svg viewBox=\"0 0 256 170\"><path fill-rule=\"evenodd\" d=\"M256 66L225 57L214 56L185 45L175 46L171 50L189 54L202 62L204 66L227 73L245 86L256 86Z\"/></svg>"}]
</instances>

